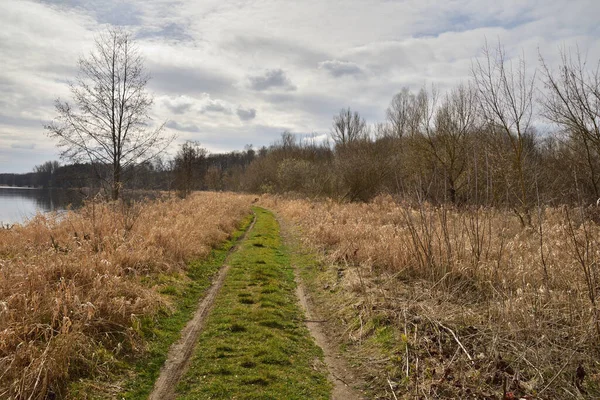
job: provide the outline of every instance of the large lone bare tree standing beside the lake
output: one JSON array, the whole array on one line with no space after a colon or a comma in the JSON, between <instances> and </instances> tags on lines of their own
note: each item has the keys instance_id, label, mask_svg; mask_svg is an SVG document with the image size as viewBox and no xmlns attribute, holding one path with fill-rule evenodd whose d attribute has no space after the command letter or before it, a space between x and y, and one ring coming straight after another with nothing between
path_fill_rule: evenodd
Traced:
<instances>
[{"instance_id":1,"label":"large lone bare tree standing beside the lake","mask_svg":"<svg viewBox=\"0 0 600 400\"><path fill-rule=\"evenodd\" d=\"M162 152L173 140L164 124L149 129L153 99L149 75L131 35L109 28L94 50L79 59L79 74L69 83L73 105L56 100L56 117L45 128L57 138L61 156L110 169L112 198L119 198L124 171Z\"/></svg>"}]
</instances>

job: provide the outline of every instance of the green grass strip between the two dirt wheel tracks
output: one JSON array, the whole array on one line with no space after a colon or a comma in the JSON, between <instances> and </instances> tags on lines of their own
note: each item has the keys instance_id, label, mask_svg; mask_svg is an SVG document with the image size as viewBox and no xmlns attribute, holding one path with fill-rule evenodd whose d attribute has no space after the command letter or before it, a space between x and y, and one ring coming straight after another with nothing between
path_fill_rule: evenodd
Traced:
<instances>
[{"instance_id":1,"label":"green grass strip between the two dirt wheel tracks","mask_svg":"<svg viewBox=\"0 0 600 400\"><path fill-rule=\"evenodd\" d=\"M255 209L247 240L197 343L179 399L328 399L321 349L303 323L279 226Z\"/></svg>"}]
</instances>

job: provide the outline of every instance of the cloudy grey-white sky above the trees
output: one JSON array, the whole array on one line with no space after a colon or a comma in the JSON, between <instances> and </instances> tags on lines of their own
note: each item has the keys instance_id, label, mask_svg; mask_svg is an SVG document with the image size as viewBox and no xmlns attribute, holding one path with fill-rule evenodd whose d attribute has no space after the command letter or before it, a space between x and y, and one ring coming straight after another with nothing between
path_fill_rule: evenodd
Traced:
<instances>
[{"instance_id":1,"label":"cloudy grey-white sky above the trees","mask_svg":"<svg viewBox=\"0 0 600 400\"><path fill-rule=\"evenodd\" d=\"M58 159L43 130L107 25L131 31L153 120L211 152L326 135L333 114L381 121L403 86L469 78L486 38L550 64L600 59L598 0L0 0L0 172Z\"/></svg>"}]
</instances>

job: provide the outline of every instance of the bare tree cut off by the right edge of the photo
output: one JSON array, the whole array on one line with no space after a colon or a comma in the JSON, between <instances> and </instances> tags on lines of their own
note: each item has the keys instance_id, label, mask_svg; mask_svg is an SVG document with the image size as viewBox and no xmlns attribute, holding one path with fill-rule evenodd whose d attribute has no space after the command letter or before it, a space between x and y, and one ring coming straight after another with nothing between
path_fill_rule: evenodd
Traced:
<instances>
[{"instance_id":1,"label":"bare tree cut off by the right edge of the photo","mask_svg":"<svg viewBox=\"0 0 600 400\"><path fill-rule=\"evenodd\" d=\"M561 65L553 72L540 55L546 92L542 115L557 124L569 139L569 147L581 149L595 198L600 197L600 62L588 67L577 50L561 51Z\"/></svg>"}]
</instances>

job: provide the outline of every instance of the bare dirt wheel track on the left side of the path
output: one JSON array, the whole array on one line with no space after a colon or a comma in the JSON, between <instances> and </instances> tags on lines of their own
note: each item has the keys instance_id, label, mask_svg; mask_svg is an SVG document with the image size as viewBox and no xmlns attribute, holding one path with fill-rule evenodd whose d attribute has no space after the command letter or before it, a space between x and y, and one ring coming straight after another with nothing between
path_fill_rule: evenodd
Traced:
<instances>
[{"instance_id":1,"label":"bare dirt wheel track on the left side of the path","mask_svg":"<svg viewBox=\"0 0 600 400\"><path fill-rule=\"evenodd\" d=\"M206 295L200 300L198 308L194 313L194 317L181 331L181 339L179 339L177 343L175 343L169 349L167 360L160 370L160 375L154 384L154 389L152 389L152 393L150 393L150 397L148 397L149 400L175 399L175 387L188 368L190 358L198 340L198 335L204 326L204 320L210 313L215 298L223 286L223 282L227 276L227 271L229 271L227 259L231 253L238 249L240 243L246 238L248 232L250 232L254 227L255 222L256 216L254 216L252 224L250 224L250 227L248 227L246 232L244 232L244 234L239 238L236 245L229 250L227 258L225 258L224 265L219 271L219 275L215 279L212 286L208 289Z\"/></svg>"}]
</instances>

